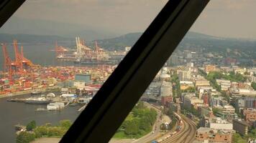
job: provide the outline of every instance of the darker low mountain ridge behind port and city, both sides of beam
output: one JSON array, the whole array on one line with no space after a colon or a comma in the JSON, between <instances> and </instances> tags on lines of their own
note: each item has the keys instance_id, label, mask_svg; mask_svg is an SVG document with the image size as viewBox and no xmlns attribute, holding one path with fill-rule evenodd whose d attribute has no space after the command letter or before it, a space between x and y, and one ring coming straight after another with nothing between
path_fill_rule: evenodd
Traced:
<instances>
[{"instance_id":1,"label":"darker low mountain ridge behind port and city, both sides of beam","mask_svg":"<svg viewBox=\"0 0 256 143\"><path fill-rule=\"evenodd\" d=\"M114 38L106 38L97 40L86 39L88 46L94 46L94 41L97 41L99 46L108 50L124 50L125 46L132 46L140 38L142 32L124 34ZM81 36L81 39L84 39ZM54 45L58 41L63 46L75 46L75 36L54 36L54 35L36 35L36 34L1 34L1 43L11 43L13 39L17 39L22 43L47 43ZM95 38L96 39L96 38ZM231 39L222 38L218 36L210 36L200 34L193 31L188 31L186 36L180 41L179 49L188 49L194 47L201 47L209 51L224 52L227 49L235 49L238 51L255 51L256 41L250 39Z\"/></svg>"}]
</instances>

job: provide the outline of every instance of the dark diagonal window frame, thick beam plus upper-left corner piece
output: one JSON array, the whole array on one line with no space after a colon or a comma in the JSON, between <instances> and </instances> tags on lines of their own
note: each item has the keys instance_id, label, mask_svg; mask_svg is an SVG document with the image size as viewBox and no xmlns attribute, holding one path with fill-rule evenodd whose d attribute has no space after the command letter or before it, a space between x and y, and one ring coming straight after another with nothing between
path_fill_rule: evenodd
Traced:
<instances>
[{"instance_id":1,"label":"dark diagonal window frame, thick beam plus upper-left corner piece","mask_svg":"<svg viewBox=\"0 0 256 143\"><path fill-rule=\"evenodd\" d=\"M25 0L6 1L0 26ZM60 142L109 142L208 2L168 1Z\"/></svg>"}]
</instances>

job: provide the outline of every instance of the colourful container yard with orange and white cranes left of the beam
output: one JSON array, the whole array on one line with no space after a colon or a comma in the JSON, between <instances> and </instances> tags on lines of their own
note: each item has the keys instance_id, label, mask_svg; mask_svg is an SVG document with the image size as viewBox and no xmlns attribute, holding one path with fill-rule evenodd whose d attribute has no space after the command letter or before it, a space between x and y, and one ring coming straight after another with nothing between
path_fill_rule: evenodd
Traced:
<instances>
[{"instance_id":1,"label":"colourful container yard with orange and white cranes left of the beam","mask_svg":"<svg viewBox=\"0 0 256 143\"><path fill-rule=\"evenodd\" d=\"M76 37L78 50L74 57L76 61L85 59L104 61L108 54L96 43L96 49L91 50L85 46L84 41ZM13 47L1 44L4 56L3 71L0 72L0 97L9 97L19 94L41 94L51 90L60 90L61 87L73 87L85 90L88 94L95 94L101 84L114 71L114 65L96 64L94 66L40 66L27 59L23 53L23 46L13 41ZM56 56L58 59L65 57L68 50L58 46L56 42ZM13 48L14 57L9 56L8 50ZM77 60L79 59L79 60ZM76 79L78 75L87 75L88 81Z\"/></svg>"}]
</instances>

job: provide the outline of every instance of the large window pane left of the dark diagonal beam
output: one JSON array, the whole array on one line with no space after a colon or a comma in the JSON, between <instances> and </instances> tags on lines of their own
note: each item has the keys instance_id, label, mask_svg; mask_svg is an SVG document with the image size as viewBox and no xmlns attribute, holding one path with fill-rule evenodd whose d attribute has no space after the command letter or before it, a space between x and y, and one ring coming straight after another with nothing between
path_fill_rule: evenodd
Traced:
<instances>
[{"instance_id":1,"label":"large window pane left of the dark diagonal beam","mask_svg":"<svg viewBox=\"0 0 256 143\"><path fill-rule=\"evenodd\" d=\"M25 1L0 29L1 142L60 139L166 2Z\"/></svg>"}]
</instances>

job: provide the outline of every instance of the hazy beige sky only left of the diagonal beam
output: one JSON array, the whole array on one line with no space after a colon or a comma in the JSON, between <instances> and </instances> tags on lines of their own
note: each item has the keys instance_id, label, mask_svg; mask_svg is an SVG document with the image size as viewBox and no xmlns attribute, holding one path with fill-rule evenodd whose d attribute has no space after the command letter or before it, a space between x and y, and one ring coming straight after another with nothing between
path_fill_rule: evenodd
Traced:
<instances>
[{"instance_id":1,"label":"hazy beige sky only left of the diagonal beam","mask_svg":"<svg viewBox=\"0 0 256 143\"><path fill-rule=\"evenodd\" d=\"M113 31L143 31L168 0L29 0L15 16ZM36 10L35 10L36 9Z\"/></svg>"}]
</instances>

